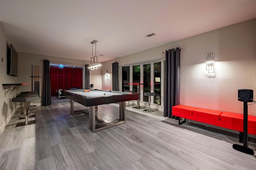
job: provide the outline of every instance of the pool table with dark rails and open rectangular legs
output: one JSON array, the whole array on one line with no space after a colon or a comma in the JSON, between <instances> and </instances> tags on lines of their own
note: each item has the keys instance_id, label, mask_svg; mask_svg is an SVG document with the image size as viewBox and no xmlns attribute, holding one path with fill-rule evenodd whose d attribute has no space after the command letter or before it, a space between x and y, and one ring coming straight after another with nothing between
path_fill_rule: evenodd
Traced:
<instances>
[{"instance_id":1,"label":"pool table with dark rails and open rectangular legs","mask_svg":"<svg viewBox=\"0 0 256 170\"><path fill-rule=\"evenodd\" d=\"M74 111L74 102L78 102L86 107L89 107L89 129L92 132L100 131L108 127L119 125L126 122L126 101L138 100L138 93L117 92L112 90L91 89L90 92L80 90L64 90L66 98L70 99L70 113L76 114ZM102 104L111 104L119 102L119 119L95 123L96 109L95 107ZM80 112L81 113L81 112Z\"/></svg>"}]
</instances>

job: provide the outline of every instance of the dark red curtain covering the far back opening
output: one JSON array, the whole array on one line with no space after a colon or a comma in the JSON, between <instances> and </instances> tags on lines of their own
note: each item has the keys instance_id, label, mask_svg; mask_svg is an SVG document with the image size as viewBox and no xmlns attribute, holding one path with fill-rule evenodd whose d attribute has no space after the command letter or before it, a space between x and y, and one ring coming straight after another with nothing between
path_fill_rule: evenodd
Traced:
<instances>
[{"instance_id":1,"label":"dark red curtain covering the far back opening","mask_svg":"<svg viewBox=\"0 0 256 170\"><path fill-rule=\"evenodd\" d=\"M51 66L51 94L56 95L58 89L82 88L83 86L83 69L64 67L62 69Z\"/></svg>"}]
</instances>

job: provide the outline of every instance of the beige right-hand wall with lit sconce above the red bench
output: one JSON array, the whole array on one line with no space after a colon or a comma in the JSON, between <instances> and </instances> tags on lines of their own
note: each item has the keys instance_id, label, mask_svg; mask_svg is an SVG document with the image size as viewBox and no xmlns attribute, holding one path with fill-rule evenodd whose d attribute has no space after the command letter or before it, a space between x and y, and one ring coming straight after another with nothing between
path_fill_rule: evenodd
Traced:
<instances>
[{"instance_id":1,"label":"beige right-hand wall with lit sconce above the red bench","mask_svg":"<svg viewBox=\"0 0 256 170\"><path fill-rule=\"evenodd\" d=\"M252 89L256 98L256 19L107 61L102 70L114 62L124 66L160 61L163 51L176 47L184 47L180 59L180 104L243 113L243 103L237 100L238 89ZM215 53L214 74L206 71L204 57L208 52ZM103 89L110 86L102 80ZM248 106L248 114L256 116L256 104Z\"/></svg>"}]
</instances>

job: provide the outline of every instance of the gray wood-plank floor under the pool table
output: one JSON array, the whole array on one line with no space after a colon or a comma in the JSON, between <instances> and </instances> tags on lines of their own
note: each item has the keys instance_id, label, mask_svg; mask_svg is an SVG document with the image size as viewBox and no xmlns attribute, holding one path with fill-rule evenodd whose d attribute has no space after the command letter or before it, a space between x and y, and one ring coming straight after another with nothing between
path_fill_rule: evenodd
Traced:
<instances>
[{"instance_id":1,"label":"gray wood-plank floor under the pool table","mask_svg":"<svg viewBox=\"0 0 256 170\"><path fill-rule=\"evenodd\" d=\"M75 103L76 109L88 109ZM255 170L256 156L232 149L238 136L127 108L124 124L96 133L88 114L70 115L68 99L38 107L36 124L15 127L18 109L0 135L1 170ZM118 105L98 113L116 119ZM87 110L88 112L88 110ZM109 114L114 112L114 114ZM106 113L106 114L105 114ZM242 144L241 144L242 145ZM256 150L255 140L248 146Z\"/></svg>"}]
</instances>

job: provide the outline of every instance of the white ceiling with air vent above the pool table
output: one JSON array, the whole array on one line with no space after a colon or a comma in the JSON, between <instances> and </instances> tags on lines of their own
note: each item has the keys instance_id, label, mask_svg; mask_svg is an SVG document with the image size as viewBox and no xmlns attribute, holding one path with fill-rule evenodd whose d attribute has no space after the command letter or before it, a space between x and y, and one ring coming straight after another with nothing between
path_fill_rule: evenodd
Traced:
<instances>
[{"instance_id":1,"label":"white ceiling with air vent above the pool table","mask_svg":"<svg viewBox=\"0 0 256 170\"><path fill-rule=\"evenodd\" d=\"M90 61L96 40L98 62L253 18L256 0L0 0L16 51Z\"/></svg>"}]
</instances>

